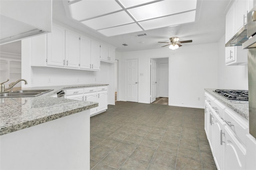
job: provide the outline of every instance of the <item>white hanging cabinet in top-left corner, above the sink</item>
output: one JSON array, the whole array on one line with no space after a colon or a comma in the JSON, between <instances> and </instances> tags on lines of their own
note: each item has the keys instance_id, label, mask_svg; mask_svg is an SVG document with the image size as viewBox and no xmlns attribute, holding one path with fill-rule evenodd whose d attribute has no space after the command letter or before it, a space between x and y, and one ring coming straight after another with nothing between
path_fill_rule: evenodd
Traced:
<instances>
[{"instance_id":1,"label":"white hanging cabinet in top-left corner, above the sink","mask_svg":"<svg viewBox=\"0 0 256 170\"><path fill-rule=\"evenodd\" d=\"M52 0L0 0L0 44L51 32Z\"/></svg>"}]
</instances>

